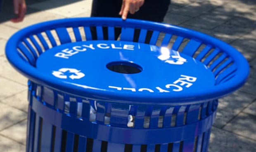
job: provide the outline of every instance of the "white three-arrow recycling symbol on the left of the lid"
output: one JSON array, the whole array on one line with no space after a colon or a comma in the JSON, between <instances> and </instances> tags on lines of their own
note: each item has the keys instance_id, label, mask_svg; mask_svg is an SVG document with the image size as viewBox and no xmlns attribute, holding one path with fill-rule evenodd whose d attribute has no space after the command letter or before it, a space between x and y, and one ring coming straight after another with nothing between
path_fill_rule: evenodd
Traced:
<instances>
[{"instance_id":1,"label":"white three-arrow recycling symbol on the left of the lid","mask_svg":"<svg viewBox=\"0 0 256 152\"><path fill-rule=\"evenodd\" d=\"M62 69L59 69L58 71L52 71L52 75L54 75L57 78L67 79L68 76L66 76L64 74L67 71L69 71L69 73L72 73L72 75L69 76L69 78L71 78L72 80L80 79L80 78L83 78L85 76L85 74L83 74L81 72L81 70L70 69L70 68L62 68Z\"/></svg>"}]
</instances>

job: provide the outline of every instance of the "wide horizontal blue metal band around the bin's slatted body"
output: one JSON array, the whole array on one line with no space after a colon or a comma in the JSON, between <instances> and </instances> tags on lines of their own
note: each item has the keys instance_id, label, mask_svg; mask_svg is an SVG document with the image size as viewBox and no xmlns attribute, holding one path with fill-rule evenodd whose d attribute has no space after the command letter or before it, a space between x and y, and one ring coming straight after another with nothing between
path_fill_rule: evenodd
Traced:
<instances>
[{"instance_id":1,"label":"wide horizontal blue metal band around the bin's slatted body","mask_svg":"<svg viewBox=\"0 0 256 152\"><path fill-rule=\"evenodd\" d=\"M36 101L36 98L34 98L34 101ZM60 127L64 130L69 130L74 134L98 140L127 144L149 144L155 143L156 141L157 143L170 143L192 138L211 128L214 121L214 113L216 113L215 109L213 115L210 115L196 123L186 124L180 127L175 126L161 129L144 129L142 126L140 128L135 127L131 129L129 127L109 126L90 122L86 119L81 120L70 117L64 113L59 113L52 108L48 108L38 101L34 102L32 108L33 111L37 111L38 115L49 121L51 124L54 124L56 127ZM150 136L154 138L139 138L141 136Z\"/></svg>"}]
</instances>

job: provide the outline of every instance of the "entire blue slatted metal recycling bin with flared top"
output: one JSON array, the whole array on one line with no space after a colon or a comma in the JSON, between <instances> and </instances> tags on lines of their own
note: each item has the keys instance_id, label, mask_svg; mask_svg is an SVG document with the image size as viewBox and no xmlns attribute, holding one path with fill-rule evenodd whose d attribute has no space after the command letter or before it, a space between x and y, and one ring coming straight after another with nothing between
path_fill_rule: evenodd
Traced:
<instances>
[{"instance_id":1,"label":"entire blue slatted metal recycling bin with flared top","mask_svg":"<svg viewBox=\"0 0 256 152\"><path fill-rule=\"evenodd\" d=\"M132 19L32 25L6 56L29 79L26 152L207 152L218 98L249 75L223 41Z\"/></svg>"}]
</instances>

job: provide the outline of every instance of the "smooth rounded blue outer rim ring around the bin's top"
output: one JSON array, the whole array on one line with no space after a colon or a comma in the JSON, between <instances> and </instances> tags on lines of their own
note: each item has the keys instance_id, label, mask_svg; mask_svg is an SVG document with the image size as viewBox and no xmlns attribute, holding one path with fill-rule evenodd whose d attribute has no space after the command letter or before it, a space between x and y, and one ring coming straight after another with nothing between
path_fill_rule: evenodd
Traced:
<instances>
[{"instance_id":1,"label":"smooth rounded blue outer rim ring around the bin's top","mask_svg":"<svg viewBox=\"0 0 256 152\"><path fill-rule=\"evenodd\" d=\"M98 21L104 21L106 25L120 25L120 26L131 26L135 27L135 25L143 26L143 28L159 28L161 30L171 30L174 33L181 33L181 35L185 35L186 37L192 37L193 39L198 39L203 42L208 42L211 44L218 44L218 47L225 51L237 64L236 75L225 83L221 83L216 85L208 90L193 90L187 94L172 94L170 97L168 93L161 94L148 94L147 97L135 95L131 93L124 92L111 92L100 90L97 88L93 88L91 86L79 86L73 85L70 83L63 83L57 78L52 78L47 74L43 74L38 72L38 70L22 60L17 52L16 43L28 37L30 33L34 30L44 30L50 28L52 26L57 25L68 25L72 23L73 26L81 25L82 23L86 24L96 24ZM115 24L114 24L115 23ZM202 38L203 37L203 38ZM242 87L244 83L247 81L249 77L249 64L247 60L239 53L235 48L226 44L223 41L220 41L211 36L205 35L200 32L196 32L193 30L188 30L185 28L180 28L173 25L166 25L162 23L154 23L149 21L138 21L134 19L127 19L126 21L122 21L119 18L71 18L71 19L61 19L56 21L48 21L45 23L39 23L36 25L32 25L28 28L25 28L17 33L15 33L7 42L6 45L6 56L12 66L17 69L21 74L26 76L31 81L45 85L54 90L59 90L61 92L65 92L68 94L72 94L75 96L88 98L88 99L97 99L104 101L112 101L112 102L124 102L124 103L138 103L138 104L151 104L152 102L157 102L157 104L195 104L199 102L209 101L213 99L217 99L223 97L231 92L234 92L238 88Z\"/></svg>"}]
</instances>

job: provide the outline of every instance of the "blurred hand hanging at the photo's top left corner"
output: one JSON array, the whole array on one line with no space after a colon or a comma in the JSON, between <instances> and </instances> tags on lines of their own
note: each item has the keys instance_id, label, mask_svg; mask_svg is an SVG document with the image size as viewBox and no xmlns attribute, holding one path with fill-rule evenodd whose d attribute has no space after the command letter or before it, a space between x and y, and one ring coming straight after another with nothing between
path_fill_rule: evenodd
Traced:
<instances>
[{"instance_id":1,"label":"blurred hand hanging at the photo's top left corner","mask_svg":"<svg viewBox=\"0 0 256 152\"><path fill-rule=\"evenodd\" d=\"M17 15L17 18L12 18L11 21L14 23L23 21L27 7L25 0L13 0L14 5L14 14Z\"/></svg>"}]
</instances>

